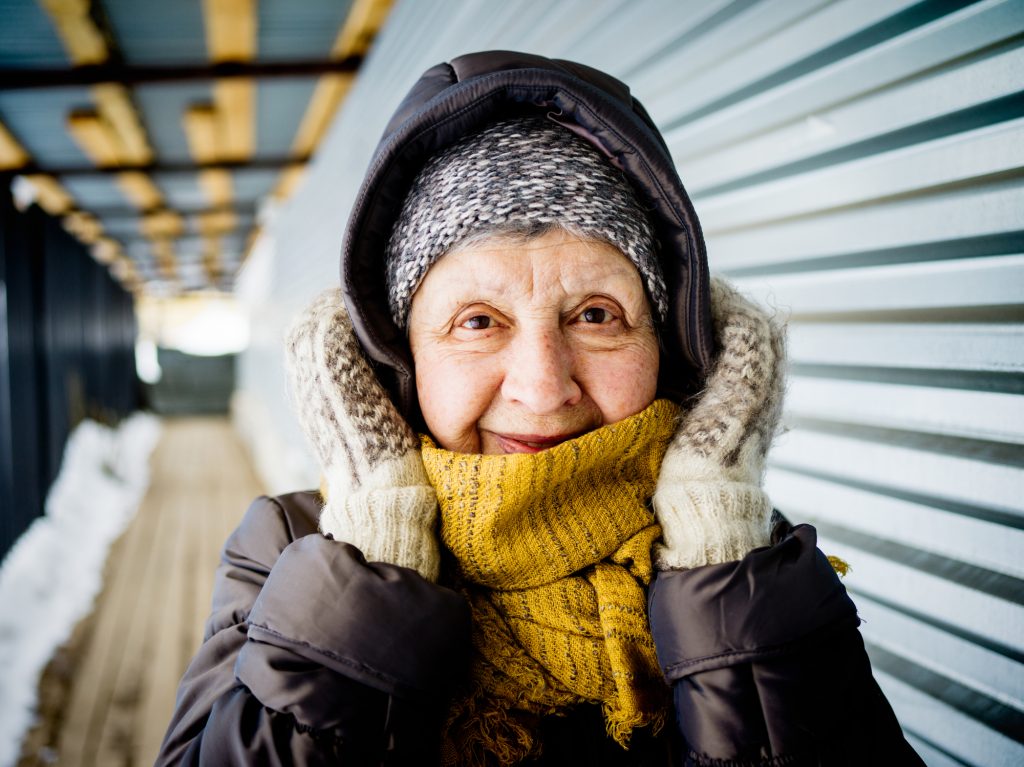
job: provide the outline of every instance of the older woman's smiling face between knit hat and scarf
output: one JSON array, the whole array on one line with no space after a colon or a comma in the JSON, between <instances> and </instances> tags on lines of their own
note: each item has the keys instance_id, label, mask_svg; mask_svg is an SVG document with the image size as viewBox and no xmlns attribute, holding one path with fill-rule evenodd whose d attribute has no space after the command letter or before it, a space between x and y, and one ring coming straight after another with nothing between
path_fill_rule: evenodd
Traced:
<instances>
[{"instance_id":1,"label":"older woman's smiling face between knit hat and scarf","mask_svg":"<svg viewBox=\"0 0 1024 767\"><path fill-rule=\"evenodd\" d=\"M459 453L538 453L644 410L658 348L636 267L561 230L453 251L413 296L430 433Z\"/></svg>"}]
</instances>

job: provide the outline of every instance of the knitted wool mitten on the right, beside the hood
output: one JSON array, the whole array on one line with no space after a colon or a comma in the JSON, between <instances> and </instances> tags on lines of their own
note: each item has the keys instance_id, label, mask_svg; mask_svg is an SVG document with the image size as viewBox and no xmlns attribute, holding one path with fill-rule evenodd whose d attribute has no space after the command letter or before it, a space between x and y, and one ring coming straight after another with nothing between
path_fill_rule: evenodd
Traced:
<instances>
[{"instance_id":1,"label":"knitted wool mitten on the right, beside the hood","mask_svg":"<svg viewBox=\"0 0 1024 767\"><path fill-rule=\"evenodd\" d=\"M718 357L669 444L653 498L663 570L729 562L769 543L761 480L782 407L785 330L723 280L711 294Z\"/></svg>"}]
</instances>

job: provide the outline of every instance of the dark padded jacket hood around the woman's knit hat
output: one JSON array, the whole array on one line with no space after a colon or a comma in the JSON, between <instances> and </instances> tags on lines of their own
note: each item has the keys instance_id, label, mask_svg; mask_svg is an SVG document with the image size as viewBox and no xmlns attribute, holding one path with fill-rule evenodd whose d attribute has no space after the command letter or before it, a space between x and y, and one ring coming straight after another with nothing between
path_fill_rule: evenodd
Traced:
<instances>
[{"instance_id":1,"label":"dark padded jacket hood around the woman's knit hat","mask_svg":"<svg viewBox=\"0 0 1024 767\"><path fill-rule=\"evenodd\" d=\"M432 67L384 131L352 208L341 284L352 324L395 404L419 423L413 357L391 321L384 249L406 194L427 159L498 120L544 115L596 146L651 210L669 291L659 328L659 395L680 400L703 380L713 355L703 236L657 128L629 88L602 72L512 51L471 53Z\"/></svg>"}]
</instances>

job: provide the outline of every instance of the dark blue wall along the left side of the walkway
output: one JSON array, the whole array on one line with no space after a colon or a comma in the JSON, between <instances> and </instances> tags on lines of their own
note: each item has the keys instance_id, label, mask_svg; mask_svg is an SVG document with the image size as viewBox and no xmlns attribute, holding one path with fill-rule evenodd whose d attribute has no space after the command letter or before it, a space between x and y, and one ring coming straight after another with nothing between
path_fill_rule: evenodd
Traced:
<instances>
[{"instance_id":1,"label":"dark blue wall along the left side of the walkway","mask_svg":"<svg viewBox=\"0 0 1024 767\"><path fill-rule=\"evenodd\" d=\"M38 208L0 195L0 557L43 512L68 434L136 410L132 295Z\"/></svg>"}]
</instances>

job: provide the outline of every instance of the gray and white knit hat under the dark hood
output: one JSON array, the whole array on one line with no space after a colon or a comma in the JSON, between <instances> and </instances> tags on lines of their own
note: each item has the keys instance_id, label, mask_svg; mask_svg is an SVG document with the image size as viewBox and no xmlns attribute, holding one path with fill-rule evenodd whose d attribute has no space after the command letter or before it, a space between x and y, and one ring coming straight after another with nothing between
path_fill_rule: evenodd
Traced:
<instances>
[{"instance_id":1,"label":"gray and white knit hat under the dark hood","mask_svg":"<svg viewBox=\"0 0 1024 767\"><path fill-rule=\"evenodd\" d=\"M406 327L427 269L469 236L558 225L622 251L640 272L655 317L665 319L654 229L625 176L568 129L517 118L438 153L413 182L386 251L395 325Z\"/></svg>"}]
</instances>

